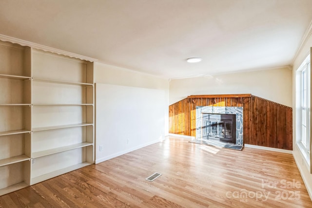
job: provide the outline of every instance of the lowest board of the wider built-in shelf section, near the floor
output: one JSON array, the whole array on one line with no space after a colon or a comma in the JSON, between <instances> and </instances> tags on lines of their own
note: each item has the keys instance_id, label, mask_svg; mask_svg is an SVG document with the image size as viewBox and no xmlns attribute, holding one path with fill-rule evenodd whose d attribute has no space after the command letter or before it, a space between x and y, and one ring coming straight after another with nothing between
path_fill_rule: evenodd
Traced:
<instances>
[{"instance_id":1,"label":"lowest board of the wider built-in shelf section, near the floor","mask_svg":"<svg viewBox=\"0 0 312 208\"><path fill-rule=\"evenodd\" d=\"M31 185L37 184L37 183L39 183L39 182L48 180L48 179L50 179L50 178L59 176L59 175L61 175L61 174L64 174L64 173L67 173L67 172L70 172L70 171L73 171L73 170L77 170L77 169L79 169L79 168L83 168L83 167L88 166L88 165L91 165L91 163L83 162L83 163L79 163L79 164L77 164L77 165L69 166L69 167L64 168L64 169L55 170L55 171L53 171L53 172L49 172L49 173L47 173L47 174L40 175L40 176L38 176L38 177L35 177L35 178L32 178L32 179L31 179Z\"/></svg>"}]
</instances>

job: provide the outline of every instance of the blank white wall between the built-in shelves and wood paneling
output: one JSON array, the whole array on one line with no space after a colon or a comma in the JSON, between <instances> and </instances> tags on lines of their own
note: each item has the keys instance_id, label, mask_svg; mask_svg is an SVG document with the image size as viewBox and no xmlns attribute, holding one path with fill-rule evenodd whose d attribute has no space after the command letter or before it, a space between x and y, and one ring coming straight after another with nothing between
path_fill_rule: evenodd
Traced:
<instances>
[{"instance_id":1,"label":"blank white wall between the built-in shelves and wood paneling","mask_svg":"<svg viewBox=\"0 0 312 208\"><path fill-rule=\"evenodd\" d=\"M168 80L95 63L95 82L96 163L168 134Z\"/></svg>"}]
</instances>

